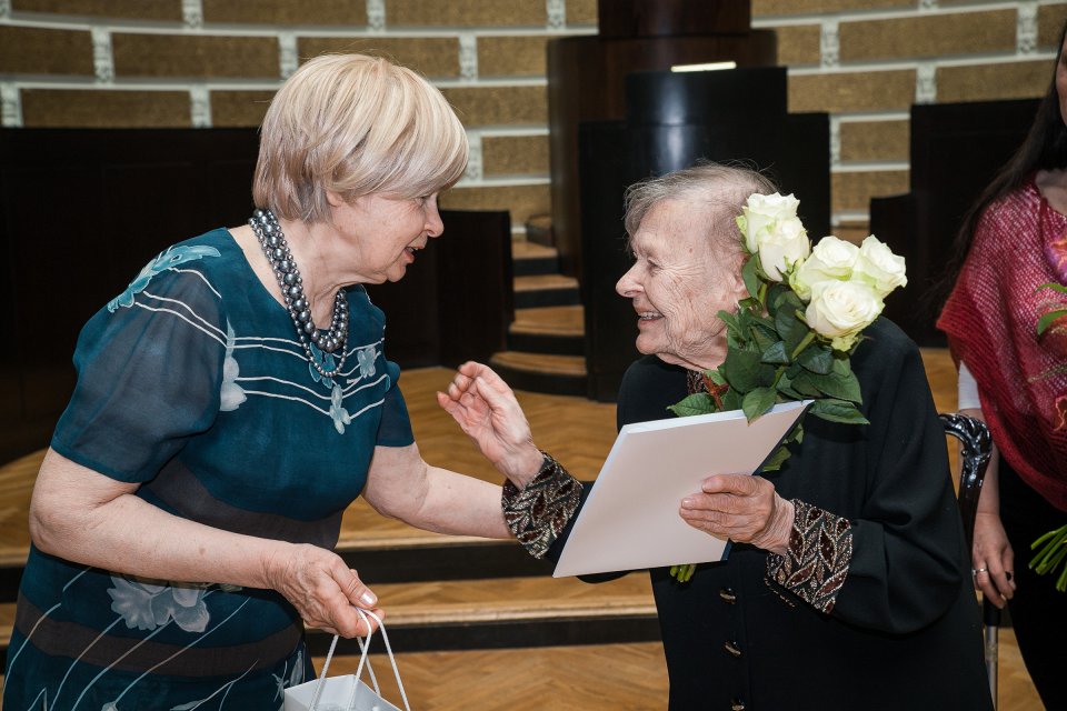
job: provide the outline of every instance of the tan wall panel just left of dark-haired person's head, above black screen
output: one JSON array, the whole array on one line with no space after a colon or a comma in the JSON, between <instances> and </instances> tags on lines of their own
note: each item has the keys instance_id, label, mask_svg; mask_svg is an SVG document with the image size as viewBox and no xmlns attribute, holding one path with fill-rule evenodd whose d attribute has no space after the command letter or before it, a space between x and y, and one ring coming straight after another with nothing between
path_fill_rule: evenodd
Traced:
<instances>
[{"instance_id":1,"label":"tan wall panel just left of dark-haired person's head, above black screen","mask_svg":"<svg viewBox=\"0 0 1067 711\"><path fill-rule=\"evenodd\" d=\"M945 103L1041 97L1051 80L1051 64L1048 60L1041 60L939 67L936 78L937 100Z\"/></svg>"}]
</instances>

